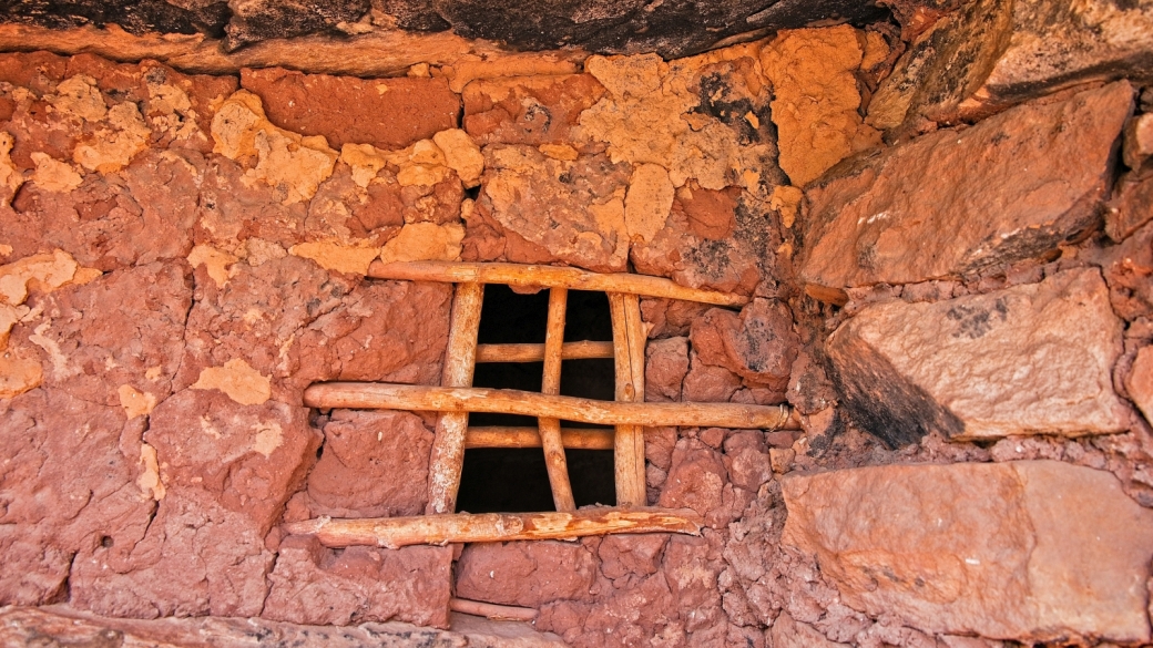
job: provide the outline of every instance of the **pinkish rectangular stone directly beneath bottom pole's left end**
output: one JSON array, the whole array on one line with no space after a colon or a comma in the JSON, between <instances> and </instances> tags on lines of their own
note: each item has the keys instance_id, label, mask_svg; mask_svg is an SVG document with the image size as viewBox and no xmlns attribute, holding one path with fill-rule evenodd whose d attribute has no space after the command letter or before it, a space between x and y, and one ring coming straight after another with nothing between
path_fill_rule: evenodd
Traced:
<instances>
[{"instance_id":1,"label":"pinkish rectangular stone directly beneath bottom pole's left end","mask_svg":"<svg viewBox=\"0 0 1153 648\"><path fill-rule=\"evenodd\" d=\"M451 570L450 548L333 551L315 537L289 536L261 615L308 625L398 620L447 628Z\"/></svg>"}]
</instances>

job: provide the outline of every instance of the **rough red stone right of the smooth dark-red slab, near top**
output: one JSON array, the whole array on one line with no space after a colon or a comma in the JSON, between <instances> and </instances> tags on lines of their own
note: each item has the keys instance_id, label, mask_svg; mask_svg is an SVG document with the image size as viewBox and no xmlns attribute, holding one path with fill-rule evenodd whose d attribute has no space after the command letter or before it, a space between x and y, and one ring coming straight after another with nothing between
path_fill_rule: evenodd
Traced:
<instances>
[{"instance_id":1,"label":"rough red stone right of the smooth dark-red slab, near top","mask_svg":"<svg viewBox=\"0 0 1153 648\"><path fill-rule=\"evenodd\" d=\"M580 113L604 96L588 74L477 80L465 86L464 128L485 144L574 145Z\"/></svg>"}]
</instances>

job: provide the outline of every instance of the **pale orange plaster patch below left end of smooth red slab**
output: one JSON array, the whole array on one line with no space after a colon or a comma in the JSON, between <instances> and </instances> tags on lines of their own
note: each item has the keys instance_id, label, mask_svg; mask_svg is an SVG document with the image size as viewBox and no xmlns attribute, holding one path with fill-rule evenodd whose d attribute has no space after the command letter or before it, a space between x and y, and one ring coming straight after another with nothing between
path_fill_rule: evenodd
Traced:
<instances>
[{"instance_id":1,"label":"pale orange plaster patch below left end of smooth red slab","mask_svg":"<svg viewBox=\"0 0 1153 648\"><path fill-rule=\"evenodd\" d=\"M316 195L339 157L323 136L303 137L273 126L264 115L261 98L247 90L238 90L217 111L212 140L213 152L249 166L246 184L262 182L276 188L285 205Z\"/></svg>"}]
</instances>

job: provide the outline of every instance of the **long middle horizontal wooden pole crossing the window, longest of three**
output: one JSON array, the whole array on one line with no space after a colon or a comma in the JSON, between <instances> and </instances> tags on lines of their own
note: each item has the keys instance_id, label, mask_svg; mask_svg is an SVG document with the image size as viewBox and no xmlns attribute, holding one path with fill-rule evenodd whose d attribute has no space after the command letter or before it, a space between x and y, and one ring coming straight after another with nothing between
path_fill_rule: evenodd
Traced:
<instances>
[{"instance_id":1,"label":"long middle horizontal wooden pole crossing the window, longest of three","mask_svg":"<svg viewBox=\"0 0 1153 648\"><path fill-rule=\"evenodd\" d=\"M483 412L598 423L775 430L792 421L787 406L737 402L618 402L518 390L428 387L389 383L317 383L304 405L324 409L369 408L413 412Z\"/></svg>"}]
</instances>

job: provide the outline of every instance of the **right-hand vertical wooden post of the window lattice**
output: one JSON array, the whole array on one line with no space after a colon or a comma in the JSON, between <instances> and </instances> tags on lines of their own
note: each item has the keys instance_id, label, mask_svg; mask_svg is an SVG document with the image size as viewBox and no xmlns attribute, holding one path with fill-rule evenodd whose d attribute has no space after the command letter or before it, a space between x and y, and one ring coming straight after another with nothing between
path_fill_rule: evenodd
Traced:
<instances>
[{"instance_id":1,"label":"right-hand vertical wooden post of the window lattice","mask_svg":"<svg viewBox=\"0 0 1153 648\"><path fill-rule=\"evenodd\" d=\"M645 400L645 325L636 295L609 293L616 348L617 400ZM640 425L617 425L613 443L617 506L645 506L645 434Z\"/></svg>"}]
</instances>

